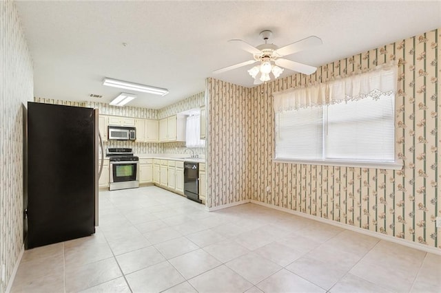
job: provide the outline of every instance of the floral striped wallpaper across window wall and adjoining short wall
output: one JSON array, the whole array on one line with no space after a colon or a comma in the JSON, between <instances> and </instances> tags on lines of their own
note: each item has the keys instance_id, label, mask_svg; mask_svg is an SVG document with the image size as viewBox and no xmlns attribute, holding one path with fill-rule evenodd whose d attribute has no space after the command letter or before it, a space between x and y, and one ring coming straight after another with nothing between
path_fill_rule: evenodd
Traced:
<instances>
[{"instance_id":1,"label":"floral striped wallpaper across window wall and adjoining short wall","mask_svg":"<svg viewBox=\"0 0 441 293\"><path fill-rule=\"evenodd\" d=\"M440 30L349 56L252 89L207 79L208 201L215 207L246 199L296 210L427 246L441 248ZM272 162L271 94L326 82L396 61L396 154L399 171Z\"/></svg>"}]
</instances>

